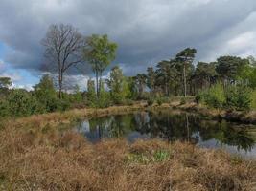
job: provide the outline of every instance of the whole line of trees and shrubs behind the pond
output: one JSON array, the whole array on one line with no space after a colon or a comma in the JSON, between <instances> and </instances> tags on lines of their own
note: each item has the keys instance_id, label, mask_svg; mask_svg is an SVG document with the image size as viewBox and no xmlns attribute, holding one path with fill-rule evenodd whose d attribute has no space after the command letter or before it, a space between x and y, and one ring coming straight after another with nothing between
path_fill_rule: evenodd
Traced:
<instances>
[{"instance_id":1,"label":"whole line of trees and shrubs behind the pond","mask_svg":"<svg viewBox=\"0 0 256 191\"><path fill-rule=\"evenodd\" d=\"M149 67L145 74L125 76L119 66L103 79L115 59L117 44L107 35L81 35L70 25L52 25L42 40L45 74L33 91L11 90L11 79L0 77L0 116L23 117L74 107L107 107L148 100L161 104L174 96L196 96L215 108L249 109L256 105L256 62L253 57L221 56L215 62L194 63L197 50L187 48L169 60ZM87 90L63 91L67 71L81 74L90 66L95 80ZM186 99L183 98L183 102Z\"/></svg>"}]
</instances>

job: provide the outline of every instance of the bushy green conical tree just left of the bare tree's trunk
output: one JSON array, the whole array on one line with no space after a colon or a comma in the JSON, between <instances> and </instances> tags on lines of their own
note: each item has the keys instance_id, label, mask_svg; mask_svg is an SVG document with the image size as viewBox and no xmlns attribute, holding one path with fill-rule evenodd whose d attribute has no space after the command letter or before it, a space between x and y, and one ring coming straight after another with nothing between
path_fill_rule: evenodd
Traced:
<instances>
[{"instance_id":1,"label":"bushy green conical tree just left of the bare tree's trunk","mask_svg":"<svg viewBox=\"0 0 256 191\"><path fill-rule=\"evenodd\" d=\"M57 93L53 79L49 74L45 74L40 82L34 87L34 94L40 103L41 112L54 112L58 108Z\"/></svg>"}]
</instances>

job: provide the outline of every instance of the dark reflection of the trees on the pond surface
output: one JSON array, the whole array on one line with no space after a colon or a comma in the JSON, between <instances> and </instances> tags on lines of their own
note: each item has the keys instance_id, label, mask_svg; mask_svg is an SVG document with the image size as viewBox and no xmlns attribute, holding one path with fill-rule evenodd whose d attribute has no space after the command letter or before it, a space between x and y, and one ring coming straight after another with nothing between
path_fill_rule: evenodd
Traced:
<instances>
[{"instance_id":1,"label":"dark reflection of the trees on the pond surface","mask_svg":"<svg viewBox=\"0 0 256 191\"><path fill-rule=\"evenodd\" d=\"M221 144L236 146L250 151L255 138L246 126L224 120L209 120L187 113L172 114L170 111L140 112L136 114L101 117L89 120L94 138L124 138L132 132L150 138L164 138L198 143L216 139Z\"/></svg>"}]
</instances>

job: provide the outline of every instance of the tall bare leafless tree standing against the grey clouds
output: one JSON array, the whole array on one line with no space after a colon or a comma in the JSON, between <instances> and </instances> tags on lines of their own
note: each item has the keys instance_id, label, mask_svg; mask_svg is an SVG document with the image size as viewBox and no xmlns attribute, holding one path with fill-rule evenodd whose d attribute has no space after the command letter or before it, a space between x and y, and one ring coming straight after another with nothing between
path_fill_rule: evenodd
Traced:
<instances>
[{"instance_id":1,"label":"tall bare leafless tree standing against the grey clouds","mask_svg":"<svg viewBox=\"0 0 256 191\"><path fill-rule=\"evenodd\" d=\"M81 63L84 39L71 25L51 25L42 40L45 47L45 67L58 74L58 97L62 98L63 75L72 66Z\"/></svg>"}]
</instances>

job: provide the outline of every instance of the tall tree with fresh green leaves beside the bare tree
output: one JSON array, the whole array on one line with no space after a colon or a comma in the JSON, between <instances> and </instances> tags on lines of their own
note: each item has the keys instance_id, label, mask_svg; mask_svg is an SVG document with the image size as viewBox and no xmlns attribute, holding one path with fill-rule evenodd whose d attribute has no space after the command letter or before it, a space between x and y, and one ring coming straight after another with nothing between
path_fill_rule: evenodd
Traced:
<instances>
[{"instance_id":1,"label":"tall tree with fresh green leaves beside the bare tree","mask_svg":"<svg viewBox=\"0 0 256 191\"><path fill-rule=\"evenodd\" d=\"M93 34L86 38L83 58L91 64L96 76L96 94L99 97L100 83L105 68L115 59L117 45L108 40L107 35ZM100 82L99 82L100 78Z\"/></svg>"}]
</instances>

